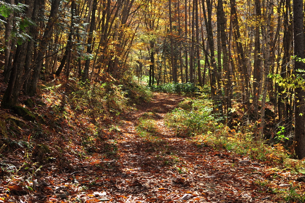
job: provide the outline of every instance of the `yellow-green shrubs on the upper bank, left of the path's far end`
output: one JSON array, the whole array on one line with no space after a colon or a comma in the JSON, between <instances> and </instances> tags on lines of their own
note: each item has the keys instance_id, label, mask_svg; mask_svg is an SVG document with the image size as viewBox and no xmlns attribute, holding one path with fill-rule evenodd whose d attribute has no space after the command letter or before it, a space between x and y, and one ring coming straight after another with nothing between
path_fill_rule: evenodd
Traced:
<instances>
[{"instance_id":1,"label":"yellow-green shrubs on the upper bank, left of the path's far end","mask_svg":"<svg viewBox=\"0 0 305 203\"><path fill-rule=\"evenodd\" d=\"M128 104L148 101L152 96L147 87L126 81L100 82L91 86L77 82L70 95L76 109L84 109L96 116L105 111L119 114Z\"/></svg>"}]
</instances>

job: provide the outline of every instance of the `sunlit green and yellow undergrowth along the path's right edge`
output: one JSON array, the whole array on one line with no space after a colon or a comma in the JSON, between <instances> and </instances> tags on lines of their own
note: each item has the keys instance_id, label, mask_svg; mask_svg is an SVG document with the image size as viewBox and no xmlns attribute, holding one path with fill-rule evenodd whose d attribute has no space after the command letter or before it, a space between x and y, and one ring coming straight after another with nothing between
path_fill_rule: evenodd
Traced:
<instances>
[{"instance_id":1,"label":"sunlit green and yellow undergrowth along the path's right edge","mask_svg":"<svg viewBox=\"0 0 305 203\"><path fill-rule=\"evenodd\" d=\"M238 132L223 125L206 98L185 99L165 116L165 122L176 129L178 136L191 137L199 146L224 148L260 161L283 162L288 157L282 145L271 147L264 140L255 140L250 125Z\"/></svg>"}]
</instances>

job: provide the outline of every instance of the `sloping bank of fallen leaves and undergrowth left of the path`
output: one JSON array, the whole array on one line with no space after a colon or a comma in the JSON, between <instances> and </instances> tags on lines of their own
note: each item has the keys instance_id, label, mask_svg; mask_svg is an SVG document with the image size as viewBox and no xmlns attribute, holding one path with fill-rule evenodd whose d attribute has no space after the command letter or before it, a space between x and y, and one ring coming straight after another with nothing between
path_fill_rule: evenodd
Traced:
<instances>
[{"instance_id":1,"label":"sloping bank of fallen leaves and undergrowth left of the path","mask_svg":"<svg viewBox=\"0 0 305 203\"><path fill-rule=\"evenodd\" d=\"M143 85L107 76L91 84L73 78L47 79L39 84L38 92L39 96L30 98L32 102L27 96L20 101L43 123L0 109L0 158L18 160L18 166L0 162L4 176L28 172L34 176L38 168L49 164L58 170L77 170L73 161L89 159L93 153L116 158L117 116L152 96Z\"/></svg>"}]
</instances>

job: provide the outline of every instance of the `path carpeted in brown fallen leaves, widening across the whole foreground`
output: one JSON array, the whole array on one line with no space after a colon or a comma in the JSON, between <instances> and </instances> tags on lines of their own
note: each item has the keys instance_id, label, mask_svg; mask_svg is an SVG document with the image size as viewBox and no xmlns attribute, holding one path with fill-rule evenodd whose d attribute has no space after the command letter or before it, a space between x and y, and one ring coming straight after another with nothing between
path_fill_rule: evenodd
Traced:
<instances>
[{"instance_id":1,"label":"path carpeted in brown fallen leaves, widening across the whole foreground","mask_svg":"<svg viewBox=\"0 0 305 203\"><path fill-rule=\"evenodd\" d=\"M35 192L22 193L10 186L11 194L0 202L280 202L271 192L289 188L295 178L268 163L258 163L224 149L214 149L179 137L167 127L166 113L184 97L154 93L151 102L135 106L117 117L111 130L117 147L113 158L99 153L75 160L75 170L45 175L33 182ZM140 136L139 119L153 115L156 129ZM86 156L86 155L84 155ZM276 171L276 172L274 172ZM39 184L38 184L38 183Z\"/></svg>"}]
</instances>

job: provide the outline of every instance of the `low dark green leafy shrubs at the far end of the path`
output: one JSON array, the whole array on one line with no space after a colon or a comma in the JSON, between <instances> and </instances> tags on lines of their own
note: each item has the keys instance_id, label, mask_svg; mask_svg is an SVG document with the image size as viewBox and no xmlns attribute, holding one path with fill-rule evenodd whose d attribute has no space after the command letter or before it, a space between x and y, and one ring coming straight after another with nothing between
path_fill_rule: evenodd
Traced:
<instances>
[{"instance_id":1,"label":"low dark green leafy shrubs at the far end of the path","mask_svg":"<svg viewBox=\"0 0 305 203\"><path fill-rule=\"evenodd\" d=\"M152 85L150 87L152 91L160 91L166 93L194 93L198 92L198 87L194 83L164 83L162 85Z\"/></svg>"}]
</instances>

